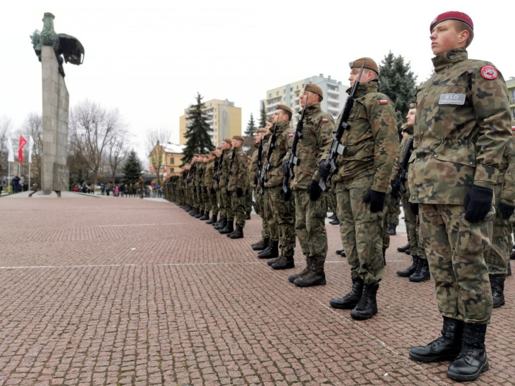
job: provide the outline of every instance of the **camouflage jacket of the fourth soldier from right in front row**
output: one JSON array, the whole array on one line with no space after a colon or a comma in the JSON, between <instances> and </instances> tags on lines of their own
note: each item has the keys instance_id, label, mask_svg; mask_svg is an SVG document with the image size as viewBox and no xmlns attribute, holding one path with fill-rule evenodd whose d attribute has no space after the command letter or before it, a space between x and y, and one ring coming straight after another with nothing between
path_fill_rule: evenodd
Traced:
<instances>
[{"instance_id":1,"label":"camouflage jacket of the fourth soldier from right in front row","mask_svg":"<svg viewBox=\"0 0 515 386\"><path fill-rule=\"evenodd\" d=\"M276 131L276 144L270 154L270 166L268 168L265 187L282 186L283 184L283 159L285 154L291 149L294 130L289 122L279 122Z\"/></svg>"}]
</instances>

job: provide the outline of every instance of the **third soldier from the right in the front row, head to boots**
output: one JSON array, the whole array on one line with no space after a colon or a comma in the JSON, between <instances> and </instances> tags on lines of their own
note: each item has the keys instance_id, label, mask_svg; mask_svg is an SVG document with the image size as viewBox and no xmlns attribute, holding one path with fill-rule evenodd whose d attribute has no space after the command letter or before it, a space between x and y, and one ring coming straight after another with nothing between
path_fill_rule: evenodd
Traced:
<instances>
[{"instance_id":1,"label":"third soldier from the right in the front row, head to boots","mask_svg":"<svg viewBox=\"0 0 515 386\"><path fill-rule=\"evenodd\" d=\"M334 119L320 109L323 93L316 84L308 83L300 96L300 106L306 107L303 118L302 137L297 144L299 164L294 167L290 188L295 198L295 231L299 237L306 268L288 276L290 283L299 287L325 285L324 263L327 256L327 193L318 185L318 164L324 149L331 145ZM289 151L283 161L288 167Z\"/></svg>"}]
</instances>

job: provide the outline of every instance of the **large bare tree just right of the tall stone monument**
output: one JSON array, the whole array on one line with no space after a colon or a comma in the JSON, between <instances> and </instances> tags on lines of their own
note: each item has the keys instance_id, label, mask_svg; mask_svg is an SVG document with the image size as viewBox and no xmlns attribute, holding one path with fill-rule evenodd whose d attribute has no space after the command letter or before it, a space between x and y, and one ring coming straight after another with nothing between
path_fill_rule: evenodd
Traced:
<instances>
[{"instance_id":1,"label":"large bare tree just right of the tall stone monument","mask_svg":"<svg viewBox=\"0 0 515 386\"><path fill-rule=\"evenodd\" d=\"M77 145L83 146L80 152L96 185L112 139L116 138L126 125L118 109L108 111L88 99L79 102L70 110L70 122Z\"/></svg>"}]
</instances>

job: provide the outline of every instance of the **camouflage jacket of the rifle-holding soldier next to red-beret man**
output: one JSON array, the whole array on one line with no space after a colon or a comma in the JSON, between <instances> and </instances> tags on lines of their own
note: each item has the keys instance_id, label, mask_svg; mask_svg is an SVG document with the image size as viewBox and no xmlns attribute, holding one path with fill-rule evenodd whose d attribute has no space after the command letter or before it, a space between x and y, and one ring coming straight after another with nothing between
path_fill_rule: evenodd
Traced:
<instances>
[{"instance_id":1,"label":"camouflage jacket of the rifle-holding soldier next to red-beret man","mask_svg":"<svg viewBox=\"0 0 515 386\"><path fill-rule=\"evenodd\" d=\"M348 89L347 93L350 92ZM347 152L338 156L338 173L333 181L349 182L373 171L372 190L386 192L399 152L393 102L385 94L377 92L376 81L359 84L354 98L347 121L349 129L341 136L341 144L347 147Z\"/></svg>"}]
</instances>

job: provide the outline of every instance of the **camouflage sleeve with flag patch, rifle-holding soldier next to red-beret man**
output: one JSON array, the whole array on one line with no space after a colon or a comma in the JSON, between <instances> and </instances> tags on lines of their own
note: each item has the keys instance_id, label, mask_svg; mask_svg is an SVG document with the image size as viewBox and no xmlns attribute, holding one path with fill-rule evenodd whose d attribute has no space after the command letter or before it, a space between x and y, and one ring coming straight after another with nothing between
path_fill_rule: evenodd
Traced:
<instances>
[{"instance_id":1,"label":"camouflage sleeve with flag patch, rifle-holding soldier next to red-beret man","mask_svg":"<svg viewBox=\"0 0 515 386\"><path fill-rule=\"evenodd\" d=\"M393 164L399 153L399 134L393 102L384 94L375 94L370 103L367 103L367 115L375 142L375 173L371 188L375 191L387 192Z\"/></svg>"}]
</instances>

